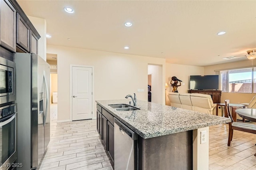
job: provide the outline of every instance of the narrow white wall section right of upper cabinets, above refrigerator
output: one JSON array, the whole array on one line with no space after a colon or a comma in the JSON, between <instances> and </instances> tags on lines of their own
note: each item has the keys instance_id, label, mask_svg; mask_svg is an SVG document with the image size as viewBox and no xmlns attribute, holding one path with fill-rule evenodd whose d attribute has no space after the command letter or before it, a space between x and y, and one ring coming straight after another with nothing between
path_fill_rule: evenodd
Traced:
<instances>
[{"instance_id":1,"label":"narrow white wall section right of upper cabinets, above refrigerator","mask_svg":"<svg viewBox=\"0 0 256 170\"><path fill-rule=\"evenodd\" d=\"M38 40L38 55L40 55L46 61L46 20L42 18L36 18L28 16L41 38Z\"/></svg>"}]
</instances>

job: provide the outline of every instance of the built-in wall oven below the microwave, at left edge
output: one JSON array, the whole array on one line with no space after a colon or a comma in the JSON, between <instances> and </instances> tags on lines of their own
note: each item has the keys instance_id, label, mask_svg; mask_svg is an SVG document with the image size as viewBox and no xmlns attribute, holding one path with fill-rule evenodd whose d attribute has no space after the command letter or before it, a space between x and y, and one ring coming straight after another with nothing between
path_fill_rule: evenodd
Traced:
<instances>
[{"instance_id":1,"label":"built-in wall oven below the microwave, at left edge","mask_svg":"<svg viewBox=\"0 0 256 170\"><path fill-rule=\"evenodd\" d=\"M12 104L0 107L0 169L12 169L16 152L16 107Z\"/></svg>"}]
</instances>

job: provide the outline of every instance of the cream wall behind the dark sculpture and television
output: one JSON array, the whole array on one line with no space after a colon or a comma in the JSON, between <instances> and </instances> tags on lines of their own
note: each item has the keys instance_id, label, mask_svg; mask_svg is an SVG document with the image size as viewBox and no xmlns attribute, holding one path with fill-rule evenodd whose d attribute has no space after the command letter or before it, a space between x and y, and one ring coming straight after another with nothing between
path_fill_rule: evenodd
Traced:
<instances>
[{"instance_id":1,"label":"cream wall behind the dark sculpture and television","mask_svg":"<svg viewBox=\"0 0 256 170\"><path fill-rule=\"evenodd\" d=\"M169 92L172 92L172 87L170 87L172 76L176 76L182 81L181 83L185 83L184 85L178 87L178 92L188 93L190 75L204 75L204 67L166 63L165 81L169 86L166 88L166 105L170 106L170 101L167 95Z\"/></svg>"}]
</instances>

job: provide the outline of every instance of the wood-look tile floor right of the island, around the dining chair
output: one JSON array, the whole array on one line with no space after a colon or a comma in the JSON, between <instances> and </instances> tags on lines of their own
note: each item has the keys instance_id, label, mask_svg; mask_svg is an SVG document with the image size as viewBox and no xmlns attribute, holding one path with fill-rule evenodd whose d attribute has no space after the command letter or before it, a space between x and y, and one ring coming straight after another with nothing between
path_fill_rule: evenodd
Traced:
<instances>
[{"instance_id":1,"label":"wood-look tile floor right of the island, around the dining chair","mask_svg":"<svg viewBox=\"0 0 256 170\"><path fill-rule=\"evenodd\" d=\"M228 146L228 124L210 127L209 169L256 170L255 144L256 134L234 130Z\"/></svg>"}]
</instances>

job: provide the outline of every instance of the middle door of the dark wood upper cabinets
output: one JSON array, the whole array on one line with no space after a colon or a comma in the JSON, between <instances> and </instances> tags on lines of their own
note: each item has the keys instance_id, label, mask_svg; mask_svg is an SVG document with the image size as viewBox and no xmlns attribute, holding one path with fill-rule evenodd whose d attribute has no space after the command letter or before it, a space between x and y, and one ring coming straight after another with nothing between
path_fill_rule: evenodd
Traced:
<instances>
[{"instance_id":1,"label":"middle door of the dark wood upper cabinets","mask_svg":"<svg viewBox=\"0 0 256 170\"><path fill-rule=\"evenodd\" d=\"M17 14L17 46L30 52L30 28L19 14Z\"/></svg>"}]
</instances>

